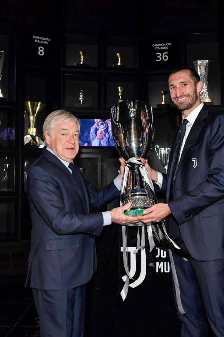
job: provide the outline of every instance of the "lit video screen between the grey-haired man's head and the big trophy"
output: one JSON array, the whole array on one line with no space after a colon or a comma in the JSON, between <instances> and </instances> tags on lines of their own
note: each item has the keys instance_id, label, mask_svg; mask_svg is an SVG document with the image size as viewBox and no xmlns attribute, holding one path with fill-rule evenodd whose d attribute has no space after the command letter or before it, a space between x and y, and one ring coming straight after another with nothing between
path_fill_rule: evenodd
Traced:
<instances>
[{"instance_id":1,"label":"lit video screen between the grey-haired man's head and the big trophy","mask_svg":"<svg viewBox=\"0 0 224 337\"><path fill-rule=\"evenodd\" d=\"M111 133L110 119L79 119L80 146L115 146Z\"/></svg>"}]
</instances>

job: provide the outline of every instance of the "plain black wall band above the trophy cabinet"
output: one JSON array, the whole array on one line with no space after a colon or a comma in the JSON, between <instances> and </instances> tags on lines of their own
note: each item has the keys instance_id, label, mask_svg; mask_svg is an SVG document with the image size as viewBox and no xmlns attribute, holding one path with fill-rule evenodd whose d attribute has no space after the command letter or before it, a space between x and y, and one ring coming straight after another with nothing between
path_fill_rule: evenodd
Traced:
<instances>
[{"instance_id":1,"label":"plain black wall band above the trophy cabinet","mask_svg":"<svg viewBox=\"0 0 224 337\"><path fill-rule=\"evenodd\" d=\"M218 29L222 12L221 0L3 0L0 20L113 35L167 34Z\"/></svg>"}]
</instances>

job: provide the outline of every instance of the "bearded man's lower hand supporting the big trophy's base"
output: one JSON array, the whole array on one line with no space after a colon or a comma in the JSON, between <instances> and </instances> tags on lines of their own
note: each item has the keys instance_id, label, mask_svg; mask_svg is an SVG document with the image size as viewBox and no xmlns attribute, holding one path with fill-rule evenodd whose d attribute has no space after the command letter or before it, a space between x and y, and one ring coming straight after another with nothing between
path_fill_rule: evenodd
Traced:
<instances>
[{"instance_id":1,"label":"bearded man's lower hand supporting the big trophy's base","mask_svg":"<svg viewBox=\"0 0 224 337\"><path fill-rule=\"evenodd\" d=\"M146 208L143 211L143 214L138 215L137 218L144 223L160 222L164 220L169 214L171 214L171 210L168 204L159 203L153 205L152 207Z\"/></svg>"}]
</instances>

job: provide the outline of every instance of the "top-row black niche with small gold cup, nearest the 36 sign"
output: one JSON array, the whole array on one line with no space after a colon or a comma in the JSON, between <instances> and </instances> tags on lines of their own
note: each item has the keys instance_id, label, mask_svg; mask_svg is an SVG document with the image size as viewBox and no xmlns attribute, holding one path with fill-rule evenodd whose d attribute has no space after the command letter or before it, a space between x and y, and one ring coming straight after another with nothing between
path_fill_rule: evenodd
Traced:
<instances>
[{"instance_id":1,"label":"top-row black niche with small gold cup, nearest the 36 sign","mask_svg":"<svg viewBox=\"0 0 224 337\"><path fill-rule=\"evenodd\" d=\"M104 48L104 68L114 68L117 71L138 68L137 38L108 36Z\"/></svg>"}]
</instances>

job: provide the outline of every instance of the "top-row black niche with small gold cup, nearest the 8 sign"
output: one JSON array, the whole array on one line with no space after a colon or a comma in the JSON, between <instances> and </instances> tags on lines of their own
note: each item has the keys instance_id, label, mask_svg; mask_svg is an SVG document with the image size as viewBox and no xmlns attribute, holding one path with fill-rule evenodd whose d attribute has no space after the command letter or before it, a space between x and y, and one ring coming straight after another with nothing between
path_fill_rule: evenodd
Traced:
<instances>
[{"instance_id":1,"label":"top-row black niche with small gold cup, nearest the 8 sign","mask_svg":"<svg viewBox=\"0 0 224 337\"><path fill-rule=\"evenodd\" d=\"M91 69L99 64L99 37L97 35L65 35L63 68Z\"/></svg>"}]
</instances>

